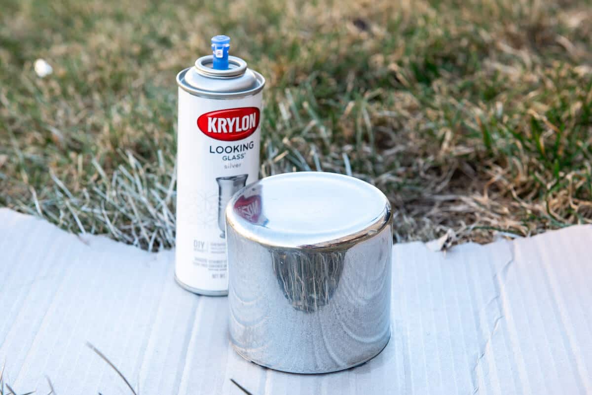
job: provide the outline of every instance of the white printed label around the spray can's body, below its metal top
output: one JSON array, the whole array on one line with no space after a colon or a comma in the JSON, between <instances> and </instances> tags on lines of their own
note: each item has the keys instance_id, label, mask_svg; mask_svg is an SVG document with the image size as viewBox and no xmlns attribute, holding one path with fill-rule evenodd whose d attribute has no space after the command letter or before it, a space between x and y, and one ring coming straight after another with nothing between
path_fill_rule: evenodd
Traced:
<instances>
[{"instance_id":1,"label":"white printed label around the spray can's body, below its metal top","mask_svg":"<svg viewBox=\"0 0 592 395\"><path fill-rule=\"evenodd\" d=\"M258 180L261 95L216 100L179 88L176 276L191 289L228 289L224 208Z\"/></svg>"}]
</instances>

